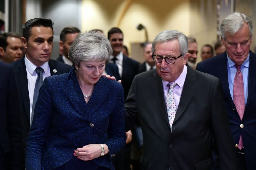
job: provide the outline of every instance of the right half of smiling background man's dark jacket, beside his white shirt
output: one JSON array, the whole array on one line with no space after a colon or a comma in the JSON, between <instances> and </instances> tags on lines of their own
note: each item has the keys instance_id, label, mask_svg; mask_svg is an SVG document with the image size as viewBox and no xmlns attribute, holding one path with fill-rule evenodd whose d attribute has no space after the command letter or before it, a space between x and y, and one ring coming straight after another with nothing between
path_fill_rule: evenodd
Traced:
<instances>
[{"instance_id":1,"label":"right half of smiling background man's dark jacket, beside his white shirt","mask_svg":"<svg viewBox=\"0 0 256 170\"><path fill-rule=\"evenodd\" d=\"M132 58L123 55L123 71L122 71L122 86L124 88L124 99L126 99L132 80L138 73L139 62Z\"/></svg>"}]
</instances>

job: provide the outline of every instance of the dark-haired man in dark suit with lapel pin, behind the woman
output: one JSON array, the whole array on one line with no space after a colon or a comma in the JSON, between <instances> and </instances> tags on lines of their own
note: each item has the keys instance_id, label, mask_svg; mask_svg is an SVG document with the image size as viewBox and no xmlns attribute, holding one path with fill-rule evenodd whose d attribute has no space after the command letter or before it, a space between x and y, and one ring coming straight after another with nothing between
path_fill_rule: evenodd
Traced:
<instances>
[{"instance_id":1,"label":"dark-haired man in dark suit with lapel pin, behind the woman","mask_svg":"<svg viewBox=\"0 0 256 170\"><path fill-rule=\"evenodd\" d=\"M23 140L26 144L37 98L34 90L39 90L36 88L37 78L44 79L47 76L68 73L73 67L50 59L53 47L53 23L50 19L30 19L23 24L22 28L21 40L26 49L26 55L13 62L12 65L18 84ZM37 73L38 69L42 72Z\"/></svg>"}]
</instances>

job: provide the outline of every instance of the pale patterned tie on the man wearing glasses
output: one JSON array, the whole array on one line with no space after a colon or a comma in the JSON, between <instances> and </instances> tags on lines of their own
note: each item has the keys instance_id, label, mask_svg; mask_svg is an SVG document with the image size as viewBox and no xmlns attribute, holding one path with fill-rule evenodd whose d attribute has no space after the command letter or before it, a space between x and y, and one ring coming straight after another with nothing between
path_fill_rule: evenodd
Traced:
<instances>
[{"instance_id":1,"label":"pale patterned tie on the man wearing glasses","mask_svg":"<svg viewBox=\"0 0 256 170\"><path fill-rule=\"evenodd\" d=\"M173 88L177 85L176 82L170 82L167 86L169 86L169 91L166 97L166 107L167 107L167 113L168 113L168 120L169 120L169 125L172 131L172 123L175 118L176 114L176 103L174 99L174 94L173 94Z\"/></svg>"}]
</instances>

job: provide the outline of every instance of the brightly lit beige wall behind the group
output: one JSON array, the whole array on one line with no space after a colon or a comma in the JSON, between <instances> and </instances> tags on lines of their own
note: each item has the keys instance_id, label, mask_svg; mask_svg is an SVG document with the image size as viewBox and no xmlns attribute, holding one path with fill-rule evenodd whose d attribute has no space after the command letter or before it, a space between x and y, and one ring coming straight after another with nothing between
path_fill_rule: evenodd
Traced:
<instances>
[{"instance_id":1,"label":"brightly lit beige wall behind the group","mask_svg":"<svg viewBox=\"0 0 256 170\"><path fill-rule=\"evenodd\" d=\"M149 41L166 29L194 36L199 49L205 43L214 44L217 39L215 1L82 0L81 19L82 31L98 28L107 34L111 27L119 27L124 33L124 44L129 49L132 42L145 41L144 30L136 29L139 23L147 28Z\"/></svg>"}]
</instances>

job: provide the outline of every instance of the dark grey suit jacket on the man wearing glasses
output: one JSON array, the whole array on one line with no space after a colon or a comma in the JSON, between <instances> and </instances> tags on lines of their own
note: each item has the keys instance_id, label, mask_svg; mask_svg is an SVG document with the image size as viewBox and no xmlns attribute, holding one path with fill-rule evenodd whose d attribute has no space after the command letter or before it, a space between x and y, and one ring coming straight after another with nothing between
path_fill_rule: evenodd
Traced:
<instances>
[{"instance_id":1,"label":"dark grey suit jacket on the man wearing glasses","mask_svg":"<svg viewBox=\"0 0 256 170\"><path fill-rule=\"evenodd\" d=\"M221 169L236 169L236 155L220 81L193 70L188 72L170 131L161 77L156 69L135 76L127 100L126 130L137 118L143 132L144 169L209 170L213 168L212 134Z\"/></svg>"}]
</instances>

